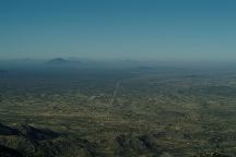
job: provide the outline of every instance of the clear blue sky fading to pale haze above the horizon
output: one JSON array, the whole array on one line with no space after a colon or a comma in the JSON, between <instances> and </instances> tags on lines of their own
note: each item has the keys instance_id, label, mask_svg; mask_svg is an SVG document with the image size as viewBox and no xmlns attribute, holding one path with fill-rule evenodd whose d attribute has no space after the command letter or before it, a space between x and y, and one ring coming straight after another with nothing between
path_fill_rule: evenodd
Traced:
<instances>
[{"instance_id":1,"label":"clear blue sky fading to pale haze above the horizon","mask_svg":"<svg viewBox=\"0 0 236 157\"><path fill-rule=\"evenodd\" d=\"M0 0L0 59L235 60L235 0Z\"/></svg>"}]
</instances>

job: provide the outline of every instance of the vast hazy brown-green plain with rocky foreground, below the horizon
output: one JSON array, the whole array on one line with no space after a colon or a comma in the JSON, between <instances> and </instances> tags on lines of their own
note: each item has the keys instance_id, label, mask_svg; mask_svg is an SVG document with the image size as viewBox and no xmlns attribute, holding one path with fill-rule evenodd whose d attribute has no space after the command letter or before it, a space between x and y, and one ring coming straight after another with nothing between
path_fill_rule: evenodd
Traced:
<instances>
[{"instance_id":1,"label":"vast hazy brown-green plain with rocky foreground, below the horizon","mask_svg":"<svg viewBox=\"0 0 236 157\"><path fill-rule=\"evenodd\" d=\"M125 62L0 68L0 156L236 156L234 68Z\"/></svg>"}]
</instances>

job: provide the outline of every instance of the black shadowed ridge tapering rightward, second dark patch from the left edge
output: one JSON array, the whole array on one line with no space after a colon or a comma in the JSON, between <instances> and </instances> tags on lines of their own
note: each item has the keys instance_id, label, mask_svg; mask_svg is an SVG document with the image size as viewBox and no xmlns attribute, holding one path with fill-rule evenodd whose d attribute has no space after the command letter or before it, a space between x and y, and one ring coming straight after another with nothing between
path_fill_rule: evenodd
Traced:
<instances>
[{"instance_id":1,"label":"black shadowed ridge tapering rightward, second dark patch from the left edge","mask_svg":"<svg viewBox=\"0 0 236 157\"><path fill-rule=\"evenodd\" d=\"M31 125L22 125L20 129L21 133L30 140L33 141L45 141L45 140L54 140L59 137L59 133L56 133L46 129L36 129Z\"/></svg>"}]
</instances>

